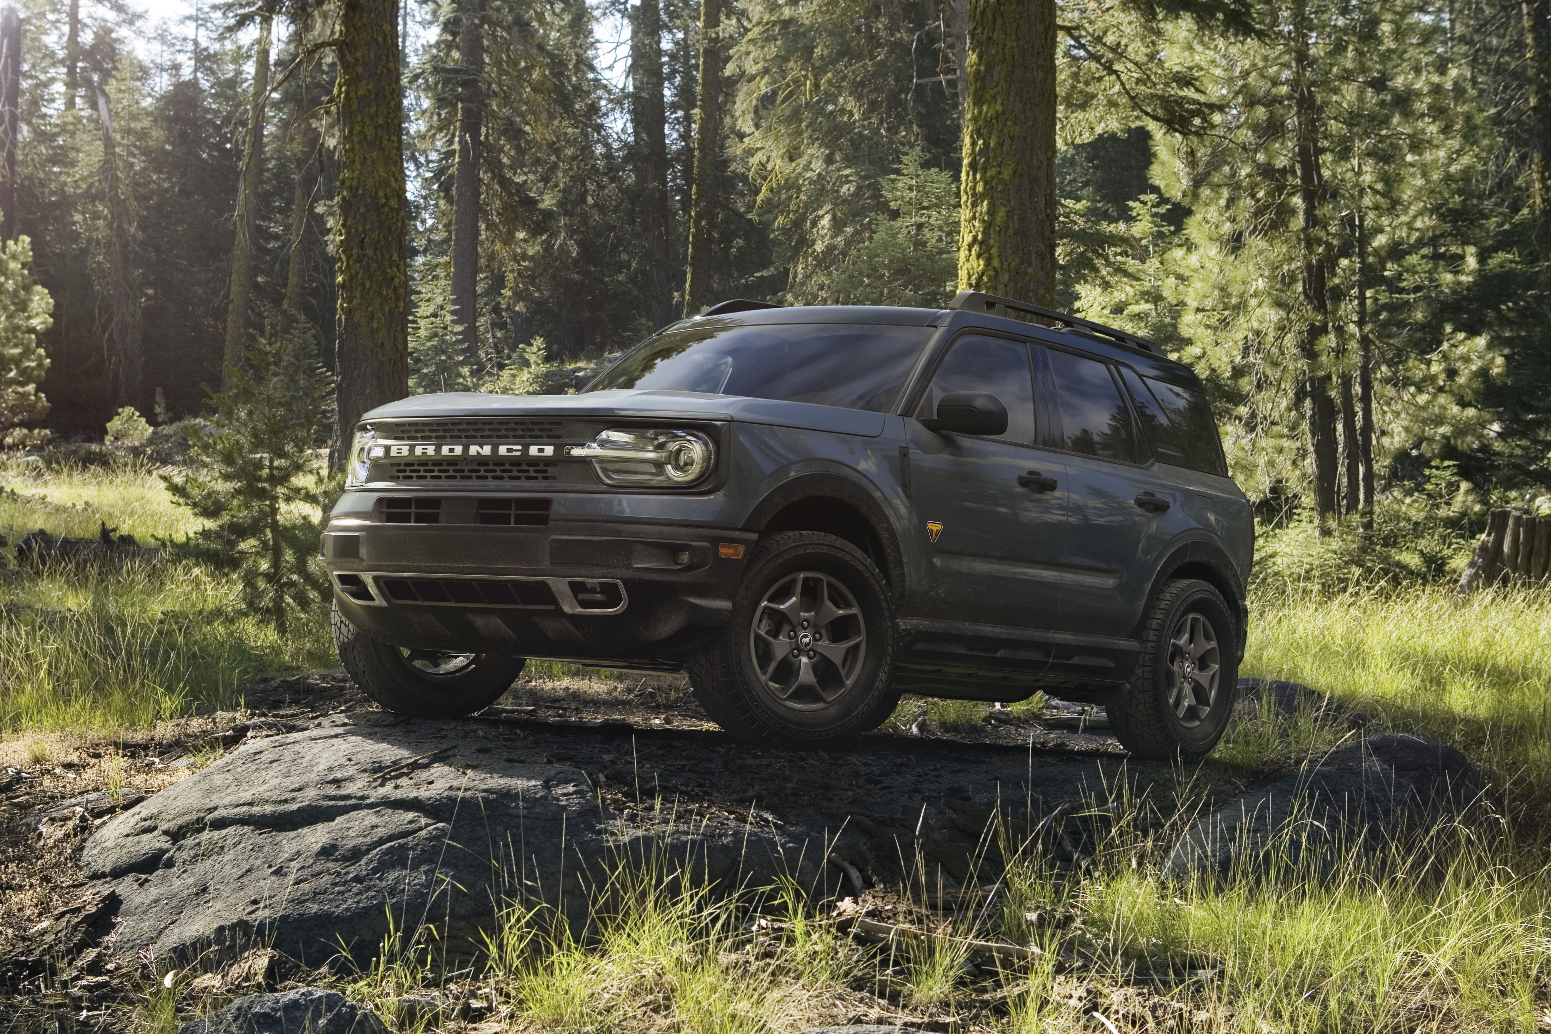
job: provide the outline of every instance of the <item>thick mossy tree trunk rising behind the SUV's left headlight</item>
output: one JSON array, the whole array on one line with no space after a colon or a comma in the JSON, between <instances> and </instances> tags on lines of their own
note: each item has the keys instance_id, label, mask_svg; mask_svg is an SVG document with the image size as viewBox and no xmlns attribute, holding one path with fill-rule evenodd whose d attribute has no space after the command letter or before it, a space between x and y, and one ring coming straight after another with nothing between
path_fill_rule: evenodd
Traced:
<instances>
[{"instance_id":1,"label":"thick mossy tree trunk rising behind the SUV's left headlight","mask_svg":"<svg viewBox=\"0 0 1551 1034\"><path fill-rule=\"evenodd\" d=\"M343 0L340 36L335 462L343 464L361 414L409 394L409 326L397 0Z\"/></svg>"}]
</instances>

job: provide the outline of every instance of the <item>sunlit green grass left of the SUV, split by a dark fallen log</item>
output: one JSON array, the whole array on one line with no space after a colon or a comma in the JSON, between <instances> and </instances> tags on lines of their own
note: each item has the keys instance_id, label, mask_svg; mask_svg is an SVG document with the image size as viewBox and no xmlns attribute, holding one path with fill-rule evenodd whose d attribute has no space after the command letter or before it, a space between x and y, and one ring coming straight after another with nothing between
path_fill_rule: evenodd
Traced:
<instances>
[{"instance_id":1,"label":"sunlit green grass left of the SUV, split by a dark fallen log","mask_svg":"<svg viewBox=\"0 0 1551 1034\"><path fill-rule=\"evenodd\" d=\"M191 530L144 464L0 468L0 533L143 544ZM0 732L107 732L234 704L259 671L332 667L327 612L281 639L236 608L234 581L191 563L57 564L16 572L0 608Z\"/></svg>"}]
</instances>

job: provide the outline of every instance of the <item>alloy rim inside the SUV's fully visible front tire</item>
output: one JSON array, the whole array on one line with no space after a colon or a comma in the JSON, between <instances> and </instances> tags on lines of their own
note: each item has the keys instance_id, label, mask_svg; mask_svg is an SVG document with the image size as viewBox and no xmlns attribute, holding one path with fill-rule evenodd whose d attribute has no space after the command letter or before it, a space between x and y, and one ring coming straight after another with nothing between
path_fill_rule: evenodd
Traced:
<instances>
[{"instance_id":1,"label":"alloy rim inside the SUV's fully visible front tire","mask_svg":"<svg viewBox=\"0 0 1551 1034\"><path fill-rule=\"evenodd\" d=\"M867 625L836 578L802 570L780 578L754 611L754 670L765 688L797 710L828 707L858 681Z\"/></svg>"}]
</instances>

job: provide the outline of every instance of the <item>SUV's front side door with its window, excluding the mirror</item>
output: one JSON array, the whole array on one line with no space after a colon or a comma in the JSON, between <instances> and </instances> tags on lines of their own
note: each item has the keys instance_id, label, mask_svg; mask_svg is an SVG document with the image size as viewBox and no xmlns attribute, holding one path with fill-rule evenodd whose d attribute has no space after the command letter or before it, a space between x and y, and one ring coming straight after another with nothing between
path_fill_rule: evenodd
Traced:
<instances>
[{"instance_id":1,"label":"SUV's front side door with its window, excluding the mirror","mask_svg":"<svg viewBox=\"0 0 1551 1034\"><path fill-rule=\"evenodd\" d=\"M1050 628L1066 547L1066 464L1033 443L1027 346L960 338L917 415L931 415L935 400L951 391L997 395L1008 409L1008 431L999 439L941 434L907 420L915 518L940 526L924 592L912 609L952 622Z\"/></svg>"}]
</instances>

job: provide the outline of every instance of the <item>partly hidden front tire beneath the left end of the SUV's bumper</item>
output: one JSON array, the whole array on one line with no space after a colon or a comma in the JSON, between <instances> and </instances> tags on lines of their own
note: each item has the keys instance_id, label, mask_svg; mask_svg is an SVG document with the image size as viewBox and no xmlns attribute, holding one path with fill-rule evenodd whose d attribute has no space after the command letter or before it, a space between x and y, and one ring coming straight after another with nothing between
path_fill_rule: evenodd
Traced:
<instances>
[{"instance_id":1,"label":"partly hidden front tire beneath the left end of the SUV's bumper","mask_svg":"<svg viewBox=\"0 0 1551 1034\"><path fill-rule=\"evenodd\" d=\"M422 668L399 646L352 625L338 606L333 608L333 645L361 693L383 710L416 718L462 718L482 712L516 682L526 663L521 657L501 654L436 654L448 659L440 665L448 670L439 673L427 660L420 662L428 665Z\"/></svg>"}]
</instances>

